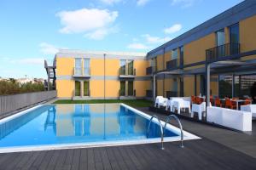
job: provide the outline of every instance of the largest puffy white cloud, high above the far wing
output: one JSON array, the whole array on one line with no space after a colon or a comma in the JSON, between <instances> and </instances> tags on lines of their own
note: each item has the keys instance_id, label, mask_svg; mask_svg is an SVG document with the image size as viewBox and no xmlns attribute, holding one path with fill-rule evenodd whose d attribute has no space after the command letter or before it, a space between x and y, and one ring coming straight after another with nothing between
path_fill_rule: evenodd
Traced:
<instances>
[{"instance_id":1,"label":"largest puffy white cloud, high above the far wing","mask_svg":"<svg viewBox=\"0 0 256 170\"><path fill-rule=\"evenodd\" d=\"M61 33L85 33L84 37L102 39L112 32L113 22L117 19L117 11L108 9L82 8L74 11L61 11Z\"/></svg>"}]
</instances>

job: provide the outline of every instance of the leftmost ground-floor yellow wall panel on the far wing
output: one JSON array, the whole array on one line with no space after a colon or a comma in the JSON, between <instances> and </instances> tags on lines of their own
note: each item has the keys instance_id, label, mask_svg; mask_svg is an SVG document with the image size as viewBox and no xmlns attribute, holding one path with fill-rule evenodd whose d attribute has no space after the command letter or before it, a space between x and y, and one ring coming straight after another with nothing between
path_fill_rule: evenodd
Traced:
<instances>
[{"instance_id":1,"label":"leftmost ground-floor yellow wall panel on the far wing","mask_svg":"<svg viewBox=\"0 0 256 170\"><path fill-rule=\"evenodd\" d=\"M59 98L73 97L74 86L72 80L56 80L57 96Z\"/></svg>"}]
</instances>

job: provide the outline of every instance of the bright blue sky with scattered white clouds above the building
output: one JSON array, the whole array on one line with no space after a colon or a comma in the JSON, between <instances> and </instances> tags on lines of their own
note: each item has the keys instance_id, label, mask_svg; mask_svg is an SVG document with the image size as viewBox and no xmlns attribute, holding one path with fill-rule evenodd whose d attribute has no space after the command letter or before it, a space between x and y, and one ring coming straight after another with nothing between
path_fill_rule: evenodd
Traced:
<instances>
[{"instance_id":1,"label":"bright blue sky with scattered white clouds above the building","mask_svg":"<svg viewBox=\"0 0 256 170\"><path fill-rule=\"evenodd\" d=\"M0 77L46 77L58 48L148 52L241 0L1 0Z\"/></svg>"}]
</instances>

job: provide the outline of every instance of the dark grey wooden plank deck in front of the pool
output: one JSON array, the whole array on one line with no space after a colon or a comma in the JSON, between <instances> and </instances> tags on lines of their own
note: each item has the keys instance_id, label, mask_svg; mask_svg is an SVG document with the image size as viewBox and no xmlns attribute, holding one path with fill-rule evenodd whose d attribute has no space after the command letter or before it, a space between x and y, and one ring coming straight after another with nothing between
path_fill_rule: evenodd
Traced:
<instances>
[{"instance_id":1,"label":"dark grey wooden plank deck in front of the pool","mask_svg":"<svg viewBox=\"0 0 256 170\"><path fill-rule=\"evenodd\" d=\"M179 142L172 142L165 143L166 150L160 150L160 144L135 144L5 153L0 154L0 170L256 169L255 133L247 135L186 120L182 123L185 130L202 139L184 141L183 149Z\"/></svg>"}]
</instances>

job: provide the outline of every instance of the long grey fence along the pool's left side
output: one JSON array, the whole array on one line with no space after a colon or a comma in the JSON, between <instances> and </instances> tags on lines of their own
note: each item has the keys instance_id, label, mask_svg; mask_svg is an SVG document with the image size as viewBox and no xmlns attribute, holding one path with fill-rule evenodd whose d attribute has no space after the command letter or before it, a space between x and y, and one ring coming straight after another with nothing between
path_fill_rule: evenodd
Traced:
<instances>
[{"instance_id":1,"label":"long grey fence along the pool's left side","mask_svg":"<svg viewBox=\"0 0 256 170\"><path fill-rule=\"evenodd\" d=\"M57 92L55 90L26 94L2 95L0 96L0 116L53 99L56 95Z\"/></svg>"}]
</instances>

